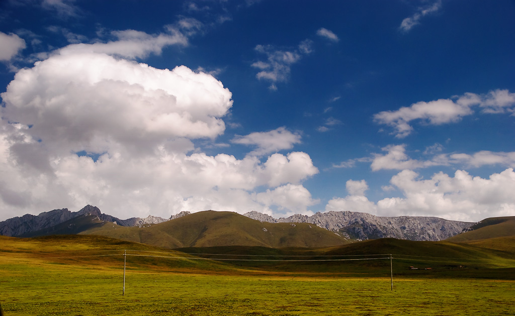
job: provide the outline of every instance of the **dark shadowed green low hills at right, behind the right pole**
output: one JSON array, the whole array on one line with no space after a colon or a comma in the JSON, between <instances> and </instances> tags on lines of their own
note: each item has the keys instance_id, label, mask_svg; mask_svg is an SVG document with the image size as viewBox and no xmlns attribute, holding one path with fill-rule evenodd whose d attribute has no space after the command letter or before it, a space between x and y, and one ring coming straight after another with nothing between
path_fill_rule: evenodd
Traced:
<instances>
[{"instance_id":1,"label":"dark shadowed green low hills at right, behind the right pole","mask_svg":"<svg viewBox=\"0 0 515 316\"><path fill-rule=\"evenodd\" d=\"M447 241L377 239L331 248L207 247L181 248L185 253L206 258L289 259L289 261L229 261L234 265L266 271L334 273L347 276L383 276L393 269L410 277L486 277L515 279L513 252L485 249L476 245ZM217 254L217 255L213 255ZM227 256L221 256L221 254ZM238 255L239 254L239 255ZM249 256L241 256L246 254ZM290 257L290 256L302 257ZM295 261L326 259L331 261ZM369 259L369 260L354 260ZM294 261L291 261L294 260ZM417 269L411 270L410 267ZM427 269L430 268L430 269Z\"/></svg>"}]
</instances>

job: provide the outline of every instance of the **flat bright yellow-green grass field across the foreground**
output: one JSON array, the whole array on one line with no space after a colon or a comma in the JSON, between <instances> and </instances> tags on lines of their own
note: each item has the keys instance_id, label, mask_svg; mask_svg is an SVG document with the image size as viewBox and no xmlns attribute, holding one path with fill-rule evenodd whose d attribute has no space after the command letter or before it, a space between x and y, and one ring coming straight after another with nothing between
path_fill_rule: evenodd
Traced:
<instances>
[{"instance_id":1,"label":"flat bright yellow-green grass field across the foreground","mask_svg":"<svg viewBox=\"0 0 515 316\"><path fill-rule=\"evenodd\" d=\"M0 273L6 315L514 315L512 281L174 273L19 264Z\"/></svg>"}]
</instances>

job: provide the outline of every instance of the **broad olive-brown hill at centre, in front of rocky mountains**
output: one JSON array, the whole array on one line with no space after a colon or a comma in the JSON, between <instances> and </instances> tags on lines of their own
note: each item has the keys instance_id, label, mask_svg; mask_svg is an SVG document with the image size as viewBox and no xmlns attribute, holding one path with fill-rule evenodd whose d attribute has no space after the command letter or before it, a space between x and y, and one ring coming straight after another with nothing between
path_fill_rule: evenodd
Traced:
<instances>
[{"instance_id":1,"label":"broad olive-brown hill at centre, in front of rocky mountains","mask_svg":"<svg viewBox=\"0 0 515 316\"><path fill-rule=\"evenodd\" d=\"M266 231L265 231L266 230ZM106 223L82 234L96 234L148 243L163 248L260 246L330 247L345 238L307 223L260 222L233 212L198 212L148 227L121 227Z\"/></svg>"}]
</instances>

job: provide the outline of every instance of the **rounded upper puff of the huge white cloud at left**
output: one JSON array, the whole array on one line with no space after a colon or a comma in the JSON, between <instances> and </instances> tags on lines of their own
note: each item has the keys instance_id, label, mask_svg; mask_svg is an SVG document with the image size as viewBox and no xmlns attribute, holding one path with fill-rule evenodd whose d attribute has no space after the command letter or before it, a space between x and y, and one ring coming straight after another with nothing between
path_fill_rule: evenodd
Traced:
<instances>
[{"instance_id":1,"label":"rounded upper puff of the huge white cloud at left","mask_svg":"<svg viewBox=\"0 0 515 316\"><path fill-rule=\"evenodd\" d=\"M153 150L163 139L215 137L231 93L207 74L168 71L95 53L22 69L2 94L2 116L52 151Z\"/></svg>"}]
</instances>

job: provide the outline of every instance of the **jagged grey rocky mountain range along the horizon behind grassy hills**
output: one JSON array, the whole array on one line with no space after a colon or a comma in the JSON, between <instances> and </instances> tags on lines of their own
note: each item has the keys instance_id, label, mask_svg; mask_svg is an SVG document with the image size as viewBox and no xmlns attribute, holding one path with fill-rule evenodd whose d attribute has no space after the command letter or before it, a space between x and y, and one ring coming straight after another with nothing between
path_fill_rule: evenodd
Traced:
<instances>
[{"instance_id":1,"label":"jagged grey rocky mountain range along the horizon behind grassy hills","mask_svg":"<svg viewBox=\"0 0 515 316\"><path fill-rule=\"evenodd\" d=\"M26 214L22 217L10 218L0 222L0 235L34 237L55 234L79 234L93 229L95 229L96 232L103 231L107 234L107 226L104 227L106 224L109 224L109 227L113 227L113 230L117 226L139 227L144 229L153 224L168 221L174 222L185 216L193 216L196 219L191 218L191 220L197 220L199 222L211 220L207 218L197 218L199 216L194 216L195 214L197 213L181 212L171 216L169 219L148 216L146 218L129 218L122 220L107 214L102 214L100 209L96 206L87 205L78 212L70 212L67 208L62 208L43 212L37 216ZM241 217L241 215L236 213L234 213L234 215L235 218ZM462 231L470 230L470 227L474 225L472 222L452 221L437 217L379 217L368 213L350 211L316 213L312 216L296 214L279 219L255 211L246 213L244 216L259 221L260 223L290 223L290 227L295 227L296 223L312 224L313 226L318 226L324 230L333 232L335 236L340 236L347 242L378 238L438 241L453 237ZM84 217L88 217L89 220L80 220ZM249 223L242 222L241 225L248 226ZM310 227L313 226L310 225ZM104 229L100 227L104 227ZM270 227L273 227L273 225ZM241 228L245 229L245 227ZM175 227L174 229L180 230L181 227ZM220 229L227 230L227 227L220 227ZM266 227L261 227L261 229L268 230ZM178 242L178 244L182 244L182 242ZM182 247L182 245L180 247Z\"/></svg>"}]
</instances>

